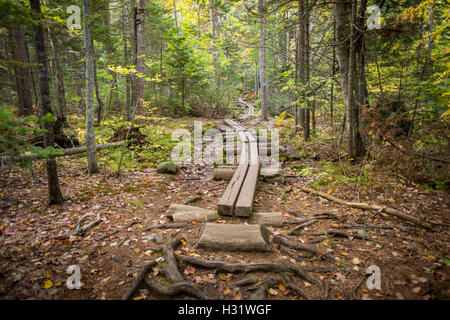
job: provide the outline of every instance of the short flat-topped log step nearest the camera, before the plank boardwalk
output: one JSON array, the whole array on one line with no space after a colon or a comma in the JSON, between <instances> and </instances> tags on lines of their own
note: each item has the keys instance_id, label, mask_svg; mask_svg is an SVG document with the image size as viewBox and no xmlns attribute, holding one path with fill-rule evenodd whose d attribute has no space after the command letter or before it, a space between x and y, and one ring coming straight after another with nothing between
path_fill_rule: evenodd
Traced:
<instances>
[{"instance_id":1,"label":"short flat-topped log step nearest the camera, before the plank boardwalk","mask_svg":"<svg viewBox=\"0 0 450 320\"><path fill-rule=\"evenodd\" d=\"M269 231L257 224L206 223L196 246L222 251L270 251Z\"/></svg>"}]
</instances>

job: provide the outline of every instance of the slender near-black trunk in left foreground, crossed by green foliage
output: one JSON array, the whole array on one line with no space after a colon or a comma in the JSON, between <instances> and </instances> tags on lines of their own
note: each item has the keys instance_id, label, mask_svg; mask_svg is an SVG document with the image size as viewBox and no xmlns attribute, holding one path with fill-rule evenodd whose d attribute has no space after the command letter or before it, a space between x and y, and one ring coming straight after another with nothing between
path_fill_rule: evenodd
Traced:
<instances>
[{"instance_id":1,"label":"slender near-black trunk in left foreground, crossed by green foliage","mask_svg":"<svg viewBox=\"0 0 450 320\"><path fill-rule=\"evenodd\" d=\"M41 14L41 5L39 0L30 0L31 10L38 15ZM44 30L41 23L34 27L34 48L36 50L36 60L38 63L39 91L41 97L40 116L52 112L52 102L50 98L50 79L48 76L48 57L44 44ZM43 124L46 132L44 134L44 147L53 146L55 136L53 133L54 122L46 122ZM47 182L48 182L48 203L62 204L64 199L59 188L58 170L55 160L47 160Z\"/></svg>"}]
</instances>

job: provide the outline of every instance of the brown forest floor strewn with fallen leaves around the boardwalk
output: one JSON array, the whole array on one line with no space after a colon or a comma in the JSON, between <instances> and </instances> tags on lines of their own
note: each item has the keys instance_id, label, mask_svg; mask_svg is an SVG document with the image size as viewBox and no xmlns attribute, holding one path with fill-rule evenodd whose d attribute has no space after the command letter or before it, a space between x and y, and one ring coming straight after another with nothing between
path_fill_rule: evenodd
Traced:
<instances>
[{"instance_id":1,"label":"brown forest floor strewn with fallen leaves around the boardwalk","mask_svg":"<svg viewBox=\"0 0 450 320\"><path fill-rule=\"evenodd\" d=\"M43 162L42 162L43 163ZM3 171L0 179L0 298L1 299L120 299L135 277L149 261L161 257L157 247L176 231L185 241L177 255L235 263L272 262L293 264L307 270L323 267L310 275L321 283L315 286L285 274L253 272L222 273L180 264L183 276L212 299L248 299L255 286L234 286L252 276L259 280L273 278L268 285L268 299L299 299L287 286L295 283L312 299L448 299L450 298L449 244L450 198L448 193L411 188L400 182L387 184L381 192L368 188L365 202L386 205L411 212L423 221L443 225L426 231L391 216L349 208L324 198L304 193L312 178L299 174L296 168L307 166L320 172L323 165L312 158L283 163L285 182L258 181L256 211L283 213L285 222L298 216L310 217L330 213L335 219L317 220L302 229L304 235L290 238L333 255L296 252L296 258L281 252L271 243L270 253L207 252L195 248L199 227L186 229L153 229L146 227L170 223L168 207L189 200L202 208L215 209L227 183L212 179L212 165L184 166L177 175L158 174L156 169L129 170L120 178L110 173L89 176L85 160L59 158L59 177L66 202L63 206L46 204L45 166L33 175L18 168ZM393 178L377 174L382 181ZM354 200L355 185L342 183L329 192L339 198ZM100 214L101 223L84 236L55 240L60 234L73 232L85 214ZM297 218L298 218L297 216ZM220 223L244 223L236 218L221 218ZM393 229L365 229L359 234L372 240L317 235L339 226L393 226ZM269 227L282 235L291 224ZM347 233L357 230L339 229ZM272 239L273 240L273 239ZM311 243L312 242L312 243ZM150 271L162 279L158 270L163 259ZM80 290L69 290L67 268L78 265L82 274ZM366 285L366 269L376 265L381 271L381 288ZM158 269L159 268L159 269ZM164 283L164 282L162 282ZM155 296L145 286L134 299L165 298Z\"/></svg>"}]
</instances>

